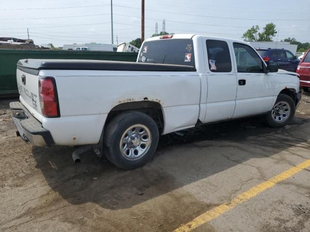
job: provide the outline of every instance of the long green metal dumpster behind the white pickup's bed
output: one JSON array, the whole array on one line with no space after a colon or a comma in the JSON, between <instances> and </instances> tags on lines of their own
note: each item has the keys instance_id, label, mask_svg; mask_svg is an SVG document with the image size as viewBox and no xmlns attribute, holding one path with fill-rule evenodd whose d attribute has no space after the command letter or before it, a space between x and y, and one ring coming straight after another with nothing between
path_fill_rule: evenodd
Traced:
<instances>
[{"instance_id":1,"label":"long green metal dumpster behind the white pickup's bed","mask_svg":"<svg viewBox=\"0 0 310 232\"><path fill-rule=\"evenodd\" d=\"M0 49L0 97L17 95L16 64L20 59L99 59L136 61L138 53L71 50Z\"/></svg>"}]
</instances>

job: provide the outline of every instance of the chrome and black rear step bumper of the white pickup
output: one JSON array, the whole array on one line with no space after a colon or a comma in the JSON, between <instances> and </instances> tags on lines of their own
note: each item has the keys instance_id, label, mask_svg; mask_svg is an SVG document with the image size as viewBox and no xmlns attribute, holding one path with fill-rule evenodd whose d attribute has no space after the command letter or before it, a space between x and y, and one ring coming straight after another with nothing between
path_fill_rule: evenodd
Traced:
<instances>
[{"instance_id":1,"label":"chrome and black rear step bumper of the white pickup","mask_svg":"<svg viewBox=\"0 0 310 232\"><path fill-rule=\"evenodd\" d=\"M17 136L34 146L54 145L50 132L42 127L41 122L34 118L21 102L10 102L10 109Z\"/></svg>"}]
</instances>

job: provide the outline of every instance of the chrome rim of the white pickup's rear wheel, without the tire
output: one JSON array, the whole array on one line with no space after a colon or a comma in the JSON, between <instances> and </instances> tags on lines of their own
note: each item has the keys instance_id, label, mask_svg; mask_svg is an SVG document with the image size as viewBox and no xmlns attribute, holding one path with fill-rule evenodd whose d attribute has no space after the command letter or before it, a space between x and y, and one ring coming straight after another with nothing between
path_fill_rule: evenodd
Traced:
<instances>
[{"instance_id":1,"label":"chrome rim of the white pickup's rear wheel, without the tire","mask_svg":"<svg viewBox=\"0 0 310 232\"><path fill-rule=\"evenodd\" d=\"M126 160L139 160L148 152L151 143L150 130L142 124L135 124L123 133L120 151Z\"/></svg>"}]
</instances>

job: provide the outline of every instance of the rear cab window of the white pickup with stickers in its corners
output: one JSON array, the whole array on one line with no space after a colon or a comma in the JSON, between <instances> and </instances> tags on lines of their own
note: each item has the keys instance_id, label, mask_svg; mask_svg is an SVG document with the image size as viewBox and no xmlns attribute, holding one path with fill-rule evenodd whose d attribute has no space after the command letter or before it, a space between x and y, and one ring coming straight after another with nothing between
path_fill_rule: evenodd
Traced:
<instances>
[{"instance_id":1,"label":"rear cab window of the white pickup with stickers in its corners","mask_svg":"<svg viewBox=\"0 0 310 232\"><path fill-rule=\"evenodd\" d=\"M195 66L191 39L162 39L145 42L138 62Z\"/></svg>"}]
</instances>

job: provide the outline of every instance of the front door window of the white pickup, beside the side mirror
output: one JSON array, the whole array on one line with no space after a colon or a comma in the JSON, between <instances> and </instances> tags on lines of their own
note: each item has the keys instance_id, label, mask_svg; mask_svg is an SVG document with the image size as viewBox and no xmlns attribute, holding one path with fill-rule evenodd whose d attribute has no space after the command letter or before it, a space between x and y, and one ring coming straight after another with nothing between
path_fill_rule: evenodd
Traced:
<instances>
[{"instance_id":1,"label":"front door window of the white pickup, beside the side mirror","mask_svg":"<svg viewBox=\"0 0 310 232\"><path fill-rule=\"evenodd\" d=\"M233 43L238 73L263 73L263 60L253 48L242 43Z\"/></svg>"}]
</instances>

